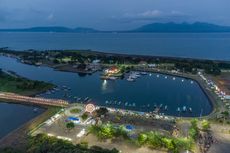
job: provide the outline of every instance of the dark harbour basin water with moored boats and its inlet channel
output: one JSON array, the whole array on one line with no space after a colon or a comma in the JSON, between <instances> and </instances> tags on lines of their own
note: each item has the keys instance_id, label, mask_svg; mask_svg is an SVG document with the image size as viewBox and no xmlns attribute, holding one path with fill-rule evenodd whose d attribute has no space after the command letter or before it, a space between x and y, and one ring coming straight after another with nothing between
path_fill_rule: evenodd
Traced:
<instances>
[{"instance_id":1,"label":"dark harbour basin water with moored boats and its inlet channel","mask_svg":"<svg viewBox=\"0 0 230 153\"><path fill-rule=\"evenodd\" d=\"M103 81L100 79L100 72L93 75L79 76L76 73L54 71L48 67L35 67L17 62L15 59L0 57L0 68L12 70L19 75L29 79L52 82L59 87L67 86L72 90L65 92L60 90L54 94L44 97L63 98L64 94L70 95L67 98L74 102L74 96L81 98L92 98L93 103L106 105L105 101L113 101L110 107L125 108L137 111L152 111L154 105L162 104L168 106L168 111L162 111L167 115L175 116L200 116L207 115L212 107L196 82L192 80L162 74L142 76L136 82L124 80ZM157 77L159 75L159 77ZM64 98L65 99L65 98ZM120 105L115 101L121 101ZM128 106L125 106L127 103ZM136 107L129 106L135 103ZM178 113L178 107L191 107L193 112Z\"/></svg>"}]
</instances>

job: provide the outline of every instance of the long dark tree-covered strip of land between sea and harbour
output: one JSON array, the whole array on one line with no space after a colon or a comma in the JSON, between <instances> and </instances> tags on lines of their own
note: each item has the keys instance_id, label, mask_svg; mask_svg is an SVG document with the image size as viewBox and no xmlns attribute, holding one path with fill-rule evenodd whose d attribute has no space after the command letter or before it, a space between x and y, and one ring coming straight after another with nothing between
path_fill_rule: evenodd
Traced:
<instances>
[{"instance_id":1,"label":"long dark tree-covered strip of land between sea and harbour","mask_svg":"<svg viewBox=\"0 0 230 153\"><path fill-rule=\"evenodd\" d=\"M36 65L37 62L48 64L80 64L84 68L86 64L93 60L100 60L101 64L117 65L121 69L121 74L130 69L130 66L140 63L156 64L161 69L180 70L181 72L197 73L198 69L203 69L207 74L219 75L221 69L230 69L230 63L224 61L154 57L137 55L120 55L93 52L90 50L60 50L60 51L12 51L0 49L0 53L13 54L23 59L28 64ZM129 67L126 67L129 65ZM147 65L146 65L147 66Z\"/></svg>"}]
</instances>

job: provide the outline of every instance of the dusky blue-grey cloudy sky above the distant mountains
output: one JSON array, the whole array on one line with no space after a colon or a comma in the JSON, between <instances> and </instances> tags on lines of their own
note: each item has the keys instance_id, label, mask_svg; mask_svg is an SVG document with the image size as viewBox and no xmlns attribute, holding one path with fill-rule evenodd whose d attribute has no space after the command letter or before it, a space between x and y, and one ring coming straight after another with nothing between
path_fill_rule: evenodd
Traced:
<instances>
[{"instance_id":1,"label":"dusky blue-grey cloudy sky above the distant mountains","mask_svg":"<svg viewBox=\"0 0 230 153\"><path fill-rule=\"evenodd\" d=\"M197 21L230 26L230 0L0 0L0 28L128 30Z\"/></svg>"}]
</instances>

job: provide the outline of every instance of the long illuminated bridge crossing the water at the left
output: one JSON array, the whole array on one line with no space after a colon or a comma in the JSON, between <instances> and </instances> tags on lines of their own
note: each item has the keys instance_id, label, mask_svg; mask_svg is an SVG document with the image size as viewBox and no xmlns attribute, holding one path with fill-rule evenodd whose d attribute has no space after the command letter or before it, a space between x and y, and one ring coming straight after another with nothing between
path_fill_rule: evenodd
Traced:
<instances>
[{"instance_id":1,"label":"long illuminated bridge crossing the water at the left","mask_svg":"<svg viewBox=\"0 0 230 153\"><path fill-rule=\"evenodd\" d=\"M9 92L0 92L0 99L13 101L16 103L25 103L30 105L66 107L69 104L67 101L61 99L28 97L28 96L22 96L14 93L9 93Z\"/></svg>"}]
</instances>

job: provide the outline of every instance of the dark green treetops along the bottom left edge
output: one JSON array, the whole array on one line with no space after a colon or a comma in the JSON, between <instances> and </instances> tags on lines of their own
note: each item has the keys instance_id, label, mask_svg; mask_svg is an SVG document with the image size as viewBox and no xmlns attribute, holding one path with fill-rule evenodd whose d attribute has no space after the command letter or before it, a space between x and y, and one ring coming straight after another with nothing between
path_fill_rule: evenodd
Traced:
<instances>
[{"instance_id":1,"label":"dark green treetops along the bottom left edge","mask_svg":"<svg viewBox=\"0 0 230 153\"><path fill-rule=\"evenodd\" d=\"M14 149L6 148L0 153L20 153ZM38 134L28 140L27 149L23 153L118 153L118 150L103 149L98 146L88 148L87 145L73 145L71 142Z\"/></svg>"}]
</instances>

